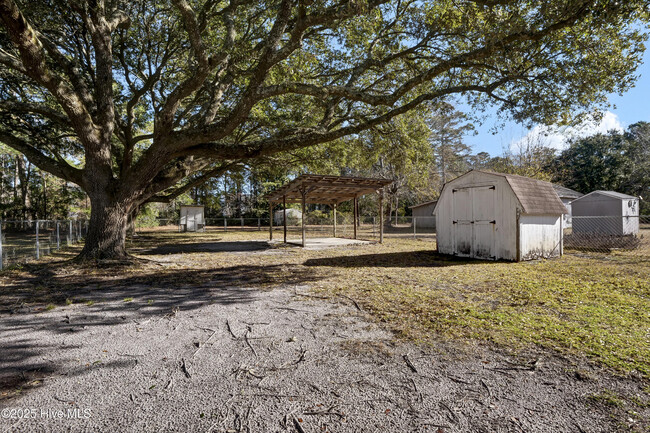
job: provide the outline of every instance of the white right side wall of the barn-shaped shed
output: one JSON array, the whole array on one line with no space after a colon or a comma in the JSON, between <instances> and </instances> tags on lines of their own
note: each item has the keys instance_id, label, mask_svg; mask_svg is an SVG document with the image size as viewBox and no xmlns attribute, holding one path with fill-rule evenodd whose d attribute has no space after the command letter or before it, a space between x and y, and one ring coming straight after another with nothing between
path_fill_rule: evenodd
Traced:
<instances>
[{"instance_id":1,"label":"white right side wall of the barn-shaped shed","mask_svg":"<svg viewBox=\"0 0 650 433\"><path fill-rule=\"evenodd\" d=\"M559 236L558 233L560 233ZM561 256L561 233L561 216L521 215L519 217L520 260L549 259Z\"/></svg>"}]
</instances>

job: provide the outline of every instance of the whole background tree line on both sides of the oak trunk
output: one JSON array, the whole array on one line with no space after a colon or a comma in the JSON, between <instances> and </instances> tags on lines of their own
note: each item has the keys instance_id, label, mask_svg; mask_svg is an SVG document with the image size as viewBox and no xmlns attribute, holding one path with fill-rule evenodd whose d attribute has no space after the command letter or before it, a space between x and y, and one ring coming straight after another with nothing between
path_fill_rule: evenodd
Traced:
<instances>
[{"instance_id":1,"label":"whole background tree line on both sides of the oak trunk","mask_svg":"<svg viewBox=\"0 0 650 433\"><path fill-rule=\"evenodd\" d=\"M650 123L627 131L611 131L573 139L557 152L543 136L523 140L503 155L473 153L465 137L474 131L467 115L450 104L422 108L350 140L282 155L255 167L241 165L210 178L168 204L139 211L147 223L175 220L178 205L206 206L206 218L268 216L264 195L301 173L384 177L387 222L409 215L409 207L436 199L442 185L467 170L484 169L552 181L586 193L598 189L641 196L650 213ZM88 198L79 187L42 171L23 155L0 147L0 217L4 220L87 217ZM321 206L322 207L322 206ZM313 206L314 209L319 206ZM361 201L362 213L373 215L373 197ZM325 208L326 209L326 208ZM351 208L349 209L351 211ZM341 212L346 211L343 205Z\"/></svg>"}]
</instances>

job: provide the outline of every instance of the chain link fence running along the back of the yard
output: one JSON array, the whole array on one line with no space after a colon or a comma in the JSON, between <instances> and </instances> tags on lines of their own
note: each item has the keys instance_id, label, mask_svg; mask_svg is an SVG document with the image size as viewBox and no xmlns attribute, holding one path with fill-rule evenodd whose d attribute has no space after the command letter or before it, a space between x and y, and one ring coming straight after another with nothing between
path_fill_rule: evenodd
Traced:
<instances>
[{"instance_id":1,"label":"chain link fence running along the back of the yard","mask_svg":"<svg viewBox=\"0 0 650 433\"><path fill-rule=\"evenodd\" d=\"M435 241L435 217L392 216L384 221L384 237ZM620 253L650 257L650 215L568 217L564 224L564 250L572 253ZM331 214L307 214L305 229L308 237L334 236ZM339 213L336 236L354 237L354 218ZM357 238L379 240L379 218L361 216L356 224ZM0 270L49 255L67 246L82 242L88 230L87 220L0 221ZM138 233L181 232L177 219L158 219L146 227L136 227ZM267 218L208 218L201 226L203 232L260 232L268 236ZM273 224L274 239L281 239L282 218ZM262 233L263 232L263 233ZM287 218L287 240L298 241L302 236L301 218Z\"/></svg>"}]
</instances>

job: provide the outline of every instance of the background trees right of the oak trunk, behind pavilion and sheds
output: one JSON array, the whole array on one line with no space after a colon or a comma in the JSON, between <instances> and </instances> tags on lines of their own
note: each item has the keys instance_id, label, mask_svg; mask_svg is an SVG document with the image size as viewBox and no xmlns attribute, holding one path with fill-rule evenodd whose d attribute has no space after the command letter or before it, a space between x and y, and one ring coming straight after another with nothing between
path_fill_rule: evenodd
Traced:
<instances>
[{"instance_id":1,"label":"background trees right of the oak trunk, behind pavilion and sheds","mask_svg":"<svg viewBox=\"0 0 650 433\"><path fill-rule=\"evenodd\" d=\"M649 122L633 124L625 132L570 139L561 152L549 147L544 136L532 136L494 157L472 152L465 138L473 131L468 117L449 104L438 110L422 109L354 139L312 148L305 155L285 156L282 163L269 161L274 170L262 165L255 170L242 167L197 186L183 200L206 205L208 217L258 217L268 214L263 195L291 176L383 177L393 180L386 189L390 222L410 215L410 206L436 199L445 181L483 169L550 181L582 193L600 189L641 196L642 212L650 213ZM170 210L161 215L171 218L173 207ZM367 215L376 212L373 197L361 201L364 210Z\"/></svg>"}]
</instances>

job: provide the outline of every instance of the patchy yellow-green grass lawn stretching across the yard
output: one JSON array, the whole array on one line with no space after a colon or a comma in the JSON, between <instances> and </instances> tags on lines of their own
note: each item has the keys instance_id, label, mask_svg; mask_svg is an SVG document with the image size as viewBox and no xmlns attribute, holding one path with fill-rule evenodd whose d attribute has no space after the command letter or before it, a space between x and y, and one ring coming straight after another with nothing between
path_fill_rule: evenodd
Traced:
<instances>
[{"instance_id":1,"label":"patchy yellow-green grass lawn stretching across the yard","mask_svg":"<svg viewBox=\"0 0 650 433\"><path fill-rule=\"evenodd\" d=\"M431 241L398 238L388 238L384 245L318 251L277 246L261 252L183 252L183 245L263 241L265 236L257 231L143 233L130 244L132 251L166 265L144 265L128 273L152 283L173 281L179 270L196 270L184 272L182 283L200 284L212 272L232 275L249 287L306 284L320 295L354 299L406 339L478 340L514 350L541 345L650 378L647 256L590 253L535 262L481 262L438 255ZM165 245L179 246L179 254L152 255ZM101 284L111 272L76 274L84 283L94 278ZM0 284L20 273L1 276ZM75 272L65 273L65 278L75 278Z\"/></svg>"}]
</instances>

